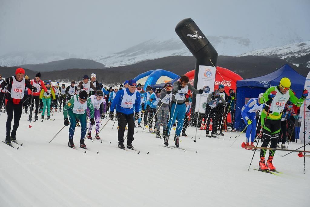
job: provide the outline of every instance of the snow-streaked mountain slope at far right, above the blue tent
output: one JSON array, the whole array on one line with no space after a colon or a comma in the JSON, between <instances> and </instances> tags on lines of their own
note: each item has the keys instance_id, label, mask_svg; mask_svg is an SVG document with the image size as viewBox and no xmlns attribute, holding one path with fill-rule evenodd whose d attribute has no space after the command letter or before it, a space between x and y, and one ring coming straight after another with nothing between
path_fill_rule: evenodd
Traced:
<instances>
[{"instance_id":1,"label":"snow-streaked mountain slope at far right, above the blue tent","mask_svg":"<svg viewBox=\"0 0 310 207\"><path fill-rule=\"evenodd\" d=\"M310 68L310 41L254 50L238 56L247 55L278 57L296 66Z\"/></svg>"}]
</instances>

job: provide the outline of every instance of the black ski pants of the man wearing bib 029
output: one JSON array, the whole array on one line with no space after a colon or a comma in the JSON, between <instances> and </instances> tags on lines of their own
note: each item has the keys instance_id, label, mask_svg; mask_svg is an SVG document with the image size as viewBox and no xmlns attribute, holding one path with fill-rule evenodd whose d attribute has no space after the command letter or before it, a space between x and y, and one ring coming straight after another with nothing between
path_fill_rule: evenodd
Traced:
<instances>
[{"instance_id":1,"label":"black ski pants of the man wearing bib 029","mask_svg":"<svg viewBox=\"0 0 310 207\"><path fill-rule=\"evenodd\" d=\"M11 122L13 120L13 113L14 113L14 125L11 135L12 137L15 137L22 112L23 112L23 100L20 100L19 104L14 104L12 101L7 101L7 136L10 136Z\"/></svg>"}]
</instances>

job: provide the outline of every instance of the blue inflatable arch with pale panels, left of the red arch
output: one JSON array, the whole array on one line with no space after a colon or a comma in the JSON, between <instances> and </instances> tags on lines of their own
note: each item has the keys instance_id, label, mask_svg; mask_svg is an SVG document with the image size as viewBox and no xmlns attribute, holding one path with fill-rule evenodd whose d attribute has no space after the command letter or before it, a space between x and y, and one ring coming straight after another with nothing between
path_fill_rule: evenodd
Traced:
<instances>
[{"instance_id":1,"label":"blue inflatable arch with pale panels, left of the red arch","mask_svg":"<svg viewBox=\"0 0 310 207\"><path fill-rule=\"evenodd\" d=\"M157 69L141 73L134 79L137 82L137 84L141 83L141 85L143 86L143 90L146 90L147 86L165 84L166 82L170 82L172 80L179 78L180 77L175 73L163 69Z\"/></svg>"}]
</instances>

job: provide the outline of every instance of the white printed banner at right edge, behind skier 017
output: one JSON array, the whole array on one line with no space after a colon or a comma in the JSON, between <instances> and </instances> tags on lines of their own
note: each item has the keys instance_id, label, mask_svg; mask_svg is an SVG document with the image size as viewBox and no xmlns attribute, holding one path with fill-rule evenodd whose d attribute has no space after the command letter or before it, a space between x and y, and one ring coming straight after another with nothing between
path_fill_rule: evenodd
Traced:
<instances>
[{"instance_id":1,"label":"white printed banner at right edge, behind skier 017","mask_svg":"<svg viewBox=\"0 0 310 207\"><path fill-rule=\"evenodd\" d=\"M307 75L304 88L308 90L308 93L310 92L310 72ZM304 108L305 108L304 103L300 107L299 121L301 121L301 125L300 125L300 131L299 131L299 139L302 141L303 141L303 132L306 133L306 139L309 139L310 141L310 111L307 108L309 104L310 104L310 96L306 98L306 118L304 118ZM304 126L305 120L306 120L306 125L304 129L303 126Z\"/></svg>"}]
</instances>

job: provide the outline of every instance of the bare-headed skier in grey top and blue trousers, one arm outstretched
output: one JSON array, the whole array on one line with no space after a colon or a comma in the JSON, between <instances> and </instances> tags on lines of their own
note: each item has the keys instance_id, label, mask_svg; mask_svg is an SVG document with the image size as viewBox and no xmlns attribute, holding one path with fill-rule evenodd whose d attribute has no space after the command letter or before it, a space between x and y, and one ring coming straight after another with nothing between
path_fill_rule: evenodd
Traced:
<instances>
[{"instance_id":1,"label":"bare-headed skier in grey top and blue trousers, one arm outstretched","mask_svg":"<svg viewBox=\"0 0 310 207\"><path fill-rule=\"evenodd\" d=\"M188 90L191 90L194 94L202 94L203 89L197 90L195 89L189 82L189 78L187 76L181 76L179 81L175 81L172 87L172 100L171 100L171 109L170 109L170 120L167 126L167 133L164 136L164 144L168 146L169 134L171 130L171 126L175 123L175 120L178 118L178 124L175 131L175 146L179 147L179 136L181 134L181 130L183 128L183 122L185 117L185 95L188 93Z\"/></svg>"}]
</instances>

